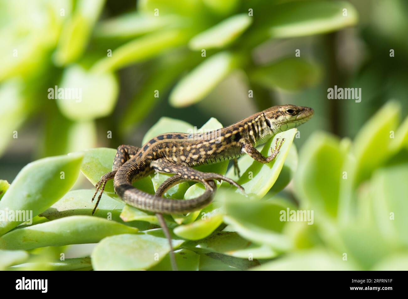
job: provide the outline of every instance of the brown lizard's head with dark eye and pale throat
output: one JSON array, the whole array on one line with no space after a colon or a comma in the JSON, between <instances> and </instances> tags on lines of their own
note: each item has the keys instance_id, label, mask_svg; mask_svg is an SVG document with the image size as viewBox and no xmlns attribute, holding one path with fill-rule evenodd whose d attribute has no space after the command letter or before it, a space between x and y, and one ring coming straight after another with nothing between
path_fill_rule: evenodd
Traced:
<instances>
[{"instance_id":1,"label":"brown lizard's head with dark eye and pale throat","mask_svg":"<svg viewBox=\"0 0 408 299\"><path fill-rule=\"evenodd\" d=\"M295 105L273 106L262 112L273 134L296 128L315 113L312 108Z\"/></svg>"}]
</instances>

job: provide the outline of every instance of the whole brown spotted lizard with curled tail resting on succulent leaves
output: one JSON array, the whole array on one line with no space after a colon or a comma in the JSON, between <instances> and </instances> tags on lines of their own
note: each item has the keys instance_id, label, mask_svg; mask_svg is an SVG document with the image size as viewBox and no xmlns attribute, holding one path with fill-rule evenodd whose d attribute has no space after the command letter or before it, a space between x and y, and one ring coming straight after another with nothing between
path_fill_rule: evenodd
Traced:
<instances>
[{"instance_id":1,"label":"whole brown spotted lizard with curled tail resting on succulent leaves","mask_svg":"<svg viewBox=\"0 0 408 299\"><path fill-rule=\"evenodd\" d=\"M305 123L313 117L313 114L313 109L309 107L279 105L211 132L165 133L155 136L142 147L120 145L116 151L112 171L104 174L95 185L96 191L92 201L98 191L100 193L92 214L98 206L106 182L113 179L115 192L126 204L156 213L169 239L172 253L170 233L162 214L187 213L205 207L213 198L214 180L226 181L244 192L244 189L231 178L221 174L201 172L192 167L235 160L244 154L248 154L260 163L269 163L278 155L284 139L276 139L275 146L271 147L271 155L268 157L264 157L256 147L266 143L280 132ZM133 187L132 183L135 180L155 171L174 175L164 181L154 195ZM187 180L201 182L205 192L190 200L162 197L167 189ZM173 269L176 268L174 255L171 261Z\"/></svg>"}]
</instances>

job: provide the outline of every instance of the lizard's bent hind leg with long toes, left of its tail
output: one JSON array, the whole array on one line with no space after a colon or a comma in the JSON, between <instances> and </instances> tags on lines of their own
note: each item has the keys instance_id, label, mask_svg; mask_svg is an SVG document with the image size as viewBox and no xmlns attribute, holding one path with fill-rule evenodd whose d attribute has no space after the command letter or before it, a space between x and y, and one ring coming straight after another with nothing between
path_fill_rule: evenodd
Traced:
<instances>
[{"instance_id":1,"label":"lizard's bent hind leg with long toes, left of its tail","mask_svg":"<svg viewBox=\"0 0 408 299\"><path fill-rule=\"evenodd\" d=\"M140 147L133 146L133 145L120 145L116 150L115 159L113 160L112 171L104 174L101 179L96 183L95 193L92 196L92 202L95 199L96 194L100 190L98 200L96 201L95 207L92 210L92 215L95 213L96 208L98 207L99 201L102 197L102 193L105 189L106 182L113 179L115 177L116 171L124 164L127 160L132 158L136 152L140 150Z\"/></svg>"}]
</instances>

